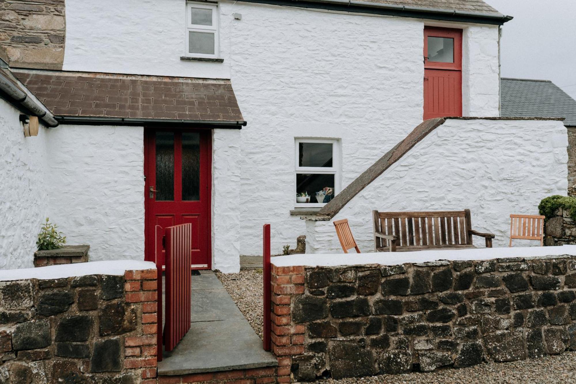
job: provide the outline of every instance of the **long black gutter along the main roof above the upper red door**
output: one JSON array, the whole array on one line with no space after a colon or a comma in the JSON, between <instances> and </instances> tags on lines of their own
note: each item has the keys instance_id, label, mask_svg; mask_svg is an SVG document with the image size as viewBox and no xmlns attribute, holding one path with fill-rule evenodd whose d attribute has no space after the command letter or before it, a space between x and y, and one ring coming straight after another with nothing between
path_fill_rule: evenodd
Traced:
<instances>
[{"instance_id":1,"label":"long black gutter along the main roof above the upper red door","mask_svg":"<svg viewBox=\"0 0 576 384\"><path fill-rule=\"evenodd\" d=\"M512 20L511 16L491 13L474 13L450 9L423 8L382 4L355 0L239 0L248 3L272 4L279 6L325 9L339 12L381 14L431 20L475 22L478 24L502 25Z\"/></svg>"}]
</instances>

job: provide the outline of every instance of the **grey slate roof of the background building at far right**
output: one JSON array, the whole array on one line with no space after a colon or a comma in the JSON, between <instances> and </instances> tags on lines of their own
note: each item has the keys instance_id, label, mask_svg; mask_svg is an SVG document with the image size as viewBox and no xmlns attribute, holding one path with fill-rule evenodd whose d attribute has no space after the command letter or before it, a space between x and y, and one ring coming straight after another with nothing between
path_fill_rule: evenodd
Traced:
<instances>
[{"instance_id":1,"label":"grey slate roof of the background building at far right","mask_svg":"<svg viewBox=\"0 0 576 384\"><path fill-rule=\"evenodd\" d=\"M576 100L553 82L503 77L500 84L502 116L562 117L576 126Z\"/></svg>"}]
</instances>

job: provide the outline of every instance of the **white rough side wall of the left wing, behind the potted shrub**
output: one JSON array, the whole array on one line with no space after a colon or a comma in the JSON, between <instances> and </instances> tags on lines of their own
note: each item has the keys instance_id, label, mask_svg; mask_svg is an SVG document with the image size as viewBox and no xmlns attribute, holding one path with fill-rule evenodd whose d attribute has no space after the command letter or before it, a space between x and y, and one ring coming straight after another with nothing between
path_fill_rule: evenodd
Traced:
<instances>
[{"instance_id":1,"label":"white rough side wall of the left wing, behind the potted shrub","mask_svg":"<svg viewBox=\"0 0 576 384\"><path fill-rule=\"evenodd\" d=\"M0 269L33 267L48 213L46 133L24 137L20 111L0 99Z\"/></svg>"}]
</instances>

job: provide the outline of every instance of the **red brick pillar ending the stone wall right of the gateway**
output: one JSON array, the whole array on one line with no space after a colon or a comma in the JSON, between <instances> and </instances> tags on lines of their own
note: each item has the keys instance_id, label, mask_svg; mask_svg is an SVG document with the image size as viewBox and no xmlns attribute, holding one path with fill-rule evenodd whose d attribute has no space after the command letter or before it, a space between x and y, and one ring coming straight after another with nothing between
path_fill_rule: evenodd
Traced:
<instances>
[{"instance_id":1,"label":"red brick pillar ending the stone wall right of the gateway","mask_svg":"<svg viewBox=\"0 0 576 384\"><path fill-rule=\"evenodd\" d=\"M271 351L278 358L278 382L289 383L292 357L304 353L304 325L292 322L291 303L304 294L304 267L271 266Z\"/></svg>"}]
</instances>

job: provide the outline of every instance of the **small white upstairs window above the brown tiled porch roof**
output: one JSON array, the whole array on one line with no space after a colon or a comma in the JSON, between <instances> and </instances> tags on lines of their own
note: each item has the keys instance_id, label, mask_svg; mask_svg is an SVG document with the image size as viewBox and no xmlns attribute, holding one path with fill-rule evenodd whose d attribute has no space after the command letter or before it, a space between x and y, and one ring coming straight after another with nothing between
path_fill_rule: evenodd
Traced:
<instances>
[{"instance_id":1,"label":"small white upstairs window above the brown tiled porch roof","mask_svg":"<svg viewBox=\"0 0 576 384\"><path fill-rule=\"evenodd\" d=\"M186 3L186 55L218 57L218 5Z\"/></svg>"}]
</instances>

